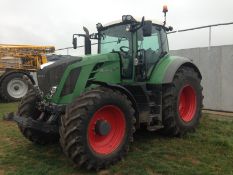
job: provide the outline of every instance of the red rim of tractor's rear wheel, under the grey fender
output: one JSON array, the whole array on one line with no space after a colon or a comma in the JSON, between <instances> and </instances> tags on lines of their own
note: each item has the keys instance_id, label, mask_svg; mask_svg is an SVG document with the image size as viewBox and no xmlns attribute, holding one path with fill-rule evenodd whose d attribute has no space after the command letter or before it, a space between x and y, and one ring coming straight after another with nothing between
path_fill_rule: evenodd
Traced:
<instances>
[{"instance_id":1,"label":"red rim of tractor's rear wheel, under the grey fender","mask_svg":"<svg viewBox=\"0 0 233 175\"><path fill-rule=\"evenodd\" d=\"M184 86L179 95L179 114L183 121L190 122L195 113L197 107L196 92L192 86Z\"/></svg>"}]
</instances>

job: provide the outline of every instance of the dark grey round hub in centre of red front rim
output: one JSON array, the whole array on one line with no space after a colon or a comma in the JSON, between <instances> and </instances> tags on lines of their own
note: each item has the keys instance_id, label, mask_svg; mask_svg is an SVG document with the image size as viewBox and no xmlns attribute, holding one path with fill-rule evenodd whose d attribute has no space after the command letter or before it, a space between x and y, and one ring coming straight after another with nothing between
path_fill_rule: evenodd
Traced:
<instances>
[{"instance_id":1,"label":"dark grey round hub in centre of red front rim","mask_svg":"<svg viewBox=\"0 0 233 175\"><path fill-rule=\"evenodd\" d=\"M107 122L107 120L98 120L95 125L95 132L100 136L108 135L111 130L111 125Z\"/></svg>"}]
</instances>

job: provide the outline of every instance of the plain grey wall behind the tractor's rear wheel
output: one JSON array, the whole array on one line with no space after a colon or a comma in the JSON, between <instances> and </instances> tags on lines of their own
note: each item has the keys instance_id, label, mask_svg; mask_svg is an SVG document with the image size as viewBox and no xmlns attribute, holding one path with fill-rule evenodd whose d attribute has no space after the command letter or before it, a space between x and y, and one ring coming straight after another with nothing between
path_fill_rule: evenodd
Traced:
<instances>
[{"instance_id":1,"label":"plain grey wall behind the tractor's rear wheel","mask_svg":"<svg viewBox=\"0 0 233 175\"><path fill-rule=\"evenodd\" d=\"M199 67L204 108L233 112L233 45L173 50L171 55L190 58Z\"/></svg>"}]
</instances>

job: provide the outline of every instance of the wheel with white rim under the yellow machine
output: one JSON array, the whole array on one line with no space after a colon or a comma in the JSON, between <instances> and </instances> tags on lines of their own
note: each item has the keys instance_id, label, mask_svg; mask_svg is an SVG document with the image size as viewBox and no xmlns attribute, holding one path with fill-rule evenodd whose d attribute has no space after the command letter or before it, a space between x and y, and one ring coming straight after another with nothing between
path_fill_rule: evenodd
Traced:
<instances>
[{"instance_id":1,"label":"wheel with white rim under the yellow machine","mask_svg":"<svg viewBox=\"0 0 233 175\"><path fill-rule=\"evenodd\" d=\"M27 94L29 87L23 76L22 73L11 73L2 80L0 94L4 101L19 101Z\"/></svg>"}]
</instances>

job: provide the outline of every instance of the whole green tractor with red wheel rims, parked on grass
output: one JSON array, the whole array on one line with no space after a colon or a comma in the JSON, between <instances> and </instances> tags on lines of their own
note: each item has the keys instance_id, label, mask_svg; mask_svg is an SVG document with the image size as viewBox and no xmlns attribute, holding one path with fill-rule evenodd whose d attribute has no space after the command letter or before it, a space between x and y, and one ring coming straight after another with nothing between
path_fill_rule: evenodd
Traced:
<instances>
[{"instance_id":1,"label":"whole green tractor with red wheel rims, parked on grass","mask_svg":"<svg viewBox=\"0 0 233 175\"><path fill-rule=\"evenodd\" d=\"M74 48L84 37L85 56L38 71L38 87L30 86L14 117L22 134L37 144L60 139L76 165L99 170L126 155L140 127L167 136L194 131L202 76L189 59L169 55L165 22L124 15L98 23L97 33L74 34Z\"/></svg>"}]
</instances>

